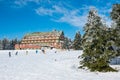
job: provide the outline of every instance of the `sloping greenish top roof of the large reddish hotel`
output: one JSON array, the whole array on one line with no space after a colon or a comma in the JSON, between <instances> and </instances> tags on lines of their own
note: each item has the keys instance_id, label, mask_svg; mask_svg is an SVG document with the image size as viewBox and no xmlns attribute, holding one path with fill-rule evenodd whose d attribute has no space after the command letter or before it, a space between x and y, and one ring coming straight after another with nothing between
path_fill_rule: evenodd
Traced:
<instances>
[{"instance_id":1,"label":"sloping greenish top roof of the large reddish hotel","mask_svg":"<svg viewBox=\"0 0 120 80\"><path fill-rule=\"evenodd\" d=\"M25 37L29 36L49 36L49 35L54 35L54 36L60 36L63 34L63 31L51 31L51 32L33 32L33 33L27 33Z\"/></svg>"}]
</instances>

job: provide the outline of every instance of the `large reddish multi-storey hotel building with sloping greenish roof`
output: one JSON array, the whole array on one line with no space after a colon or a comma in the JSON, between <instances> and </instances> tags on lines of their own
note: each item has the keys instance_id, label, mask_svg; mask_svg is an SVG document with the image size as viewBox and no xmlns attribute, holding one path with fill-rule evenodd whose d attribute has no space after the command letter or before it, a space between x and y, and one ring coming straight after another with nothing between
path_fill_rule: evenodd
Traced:
<instances>
[{"instance_id":1,"label":"large reddish multi-storey hotel building with sloping greenish roof","mask_svg":"<svg viewBox=\"0 0 120 80\"><path fill-rule=\"evenodd\" d=\"M42 47L61 49L64 43L63 31L34 32L26 34L15 49L40 49Z\"/></svg>"}]
</instances>

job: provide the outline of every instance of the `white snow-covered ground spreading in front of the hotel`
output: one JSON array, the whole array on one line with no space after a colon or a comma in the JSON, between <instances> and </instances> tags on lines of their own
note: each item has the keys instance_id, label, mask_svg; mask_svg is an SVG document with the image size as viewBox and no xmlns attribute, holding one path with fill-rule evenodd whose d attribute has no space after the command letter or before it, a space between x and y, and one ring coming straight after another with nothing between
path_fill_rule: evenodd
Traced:
<instances>
[{"instance_id":1,"label":"white snow-covered ground spreading in front of the hotel","mask_svg":"<svg viewBox=\"0 0 120 80\"><path fill-rule=\"evenodd\" d=\"M8 53L12 56L9 58ZM119 72L90 72L78 69L82 51L0 51L0 80L120 80ZM120 69L120 65L112 65Z\"/></svg>"}]
</instances>

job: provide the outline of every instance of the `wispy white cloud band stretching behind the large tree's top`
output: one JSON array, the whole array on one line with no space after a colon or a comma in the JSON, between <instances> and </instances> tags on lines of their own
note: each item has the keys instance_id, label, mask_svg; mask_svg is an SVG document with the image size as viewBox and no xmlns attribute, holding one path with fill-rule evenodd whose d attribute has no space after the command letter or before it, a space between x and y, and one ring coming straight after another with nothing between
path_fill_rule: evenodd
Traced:
<instances>
[{"instance_id":1,"label":"wispy white cloud band stretching behind the large tree's top","mask_svg":"<svg viewBox=\"0 0 120 80\"><path fill-rule=\"evenodd\" d=\"M60 16L57 19L52 18L52 20L56 22L65 22L76 27L83 27L87 21L88 10L90 10L91 8L97 9L103 21L106 22L108 26L111 25L111 20L109 16L106 16L106 13L110 13L111 9L107 9L107 8L99 9L96 8L95 6L84 5L80 9L67 9L65 7L60 7L60 6L53 6L50 9L40 7L36 9L36 13L39 15L49 15L51 16L51 18L54 17L53 16L54 13L63 14L63 16ZM82 14L79 14L81 11L83 11Z\"/></svg>"}]
</instances>

